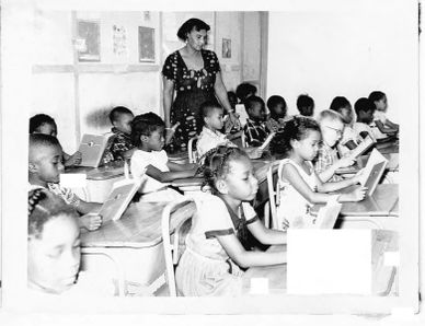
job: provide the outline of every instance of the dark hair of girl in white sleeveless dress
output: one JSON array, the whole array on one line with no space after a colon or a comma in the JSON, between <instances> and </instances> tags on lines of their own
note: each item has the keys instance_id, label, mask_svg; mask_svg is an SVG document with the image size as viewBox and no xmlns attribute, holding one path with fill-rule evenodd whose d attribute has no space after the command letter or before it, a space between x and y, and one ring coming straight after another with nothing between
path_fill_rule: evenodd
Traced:
<instances>
[{"instance_id":1,"label":"dark hair of girl in white sleeveless dress","mask_svg":"<svg viewBox=\"0 0 425 326\"><path fill-rule=\"evenodd\" d=\"M319 124L309 117L295 116L280 128L271 142L272 154L289 155L292 150L291 140L302 140L309 130L320 132Z\"/></svg>"}]
</instances>

